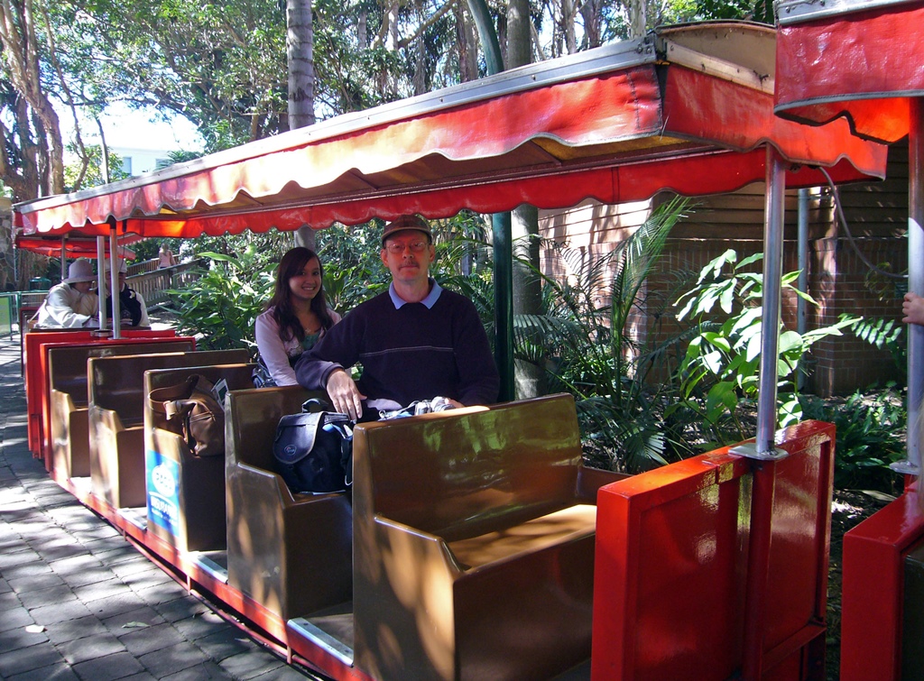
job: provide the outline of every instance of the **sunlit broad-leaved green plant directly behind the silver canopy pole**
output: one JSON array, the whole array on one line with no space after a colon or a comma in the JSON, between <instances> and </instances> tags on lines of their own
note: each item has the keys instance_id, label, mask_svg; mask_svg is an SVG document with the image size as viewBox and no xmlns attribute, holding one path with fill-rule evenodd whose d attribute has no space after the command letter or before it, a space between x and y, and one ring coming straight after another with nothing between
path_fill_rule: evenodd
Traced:
<instances>
[{"instance_id":1,"label":"sunlit broad-leaved green plant directly behind the silver canopy pole","mask_svg":"<svg viewBox=\"0 0 924 681\"><path fill-rule=\"evenodd\" d=\"M704 430L711 432L703 444L706 448L749 436L739 418L739 407L744 400L757 400L763 275L748 268L762 258L763 254L757 253L739 262L736 251L726 250L702 269L696 286L675 303L680 308L677 319L692 320L697 334L690 340L678 371L682 401L671 409L690 409L698 415ZM784 291L817 305L793 286L797 278L797 272L784 274ZM844 316L806 334L781 325L776 362L780 425L801 419L795 375L809 348L822 338L841 335L841 329L858 321L858 317Z\"/></svg>"}]
</instances>

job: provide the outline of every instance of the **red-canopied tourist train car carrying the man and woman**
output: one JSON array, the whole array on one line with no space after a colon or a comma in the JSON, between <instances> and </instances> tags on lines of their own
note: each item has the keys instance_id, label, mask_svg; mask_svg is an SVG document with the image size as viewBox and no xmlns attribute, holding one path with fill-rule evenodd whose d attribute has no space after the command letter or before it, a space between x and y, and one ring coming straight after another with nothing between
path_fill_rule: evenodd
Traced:
<instances>
[{"instance_id":1,"label":"red-canopied tourist train car carrying the man and woman","mask_svg":"<svg viewBox=\"0 0 924 681\"><path fill-rule=\"evenodd\" d=\"M16 222L196 237L765 180L773 328L784 189L824 184L819 167L836 182L881 177L886 158L844 120L773 115L775 44L757 24L665 27L22 203ZM504 222L495 242L509 242ZM498 259L502 297L510 272ZM583 466L570 396L510 401L509 323L497 324L503 401L359 425L348 497L287 490L270 443L311 395L232 385L239 366L226 370L224 467L190 456L149 405L134 455L146 503L122 505L92 475L89 487L63 482L254 636L329 677L821 678L834 433L813 421L776 430L776 337L763 338L752 442L626 477ZM91 371L122 360L92 359ZM225 375L145 371L134 398L187 371ZM193 511L190 484L208 486L213 509L224 488L224 518Z\"/></svg>"}]
</instances>

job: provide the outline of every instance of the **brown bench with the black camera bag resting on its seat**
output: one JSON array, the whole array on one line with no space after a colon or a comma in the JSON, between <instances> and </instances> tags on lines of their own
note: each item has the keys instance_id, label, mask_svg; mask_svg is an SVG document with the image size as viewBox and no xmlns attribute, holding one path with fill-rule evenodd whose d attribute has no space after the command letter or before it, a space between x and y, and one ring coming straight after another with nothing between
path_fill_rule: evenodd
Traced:
<instances>
[{"instance_id":1,"label":"brown bench with the black camera bag resting on its seat","mask_svg":"<svg viewBox=\"0 0 924 681\"><path fill-rule=\"evenodd\" d=\"M228 584L283 620L352 598L346 493L293 494L275 472L276 425L310 397L298 385L235 390L225 420Z\"/></svg>"}]
</instances>

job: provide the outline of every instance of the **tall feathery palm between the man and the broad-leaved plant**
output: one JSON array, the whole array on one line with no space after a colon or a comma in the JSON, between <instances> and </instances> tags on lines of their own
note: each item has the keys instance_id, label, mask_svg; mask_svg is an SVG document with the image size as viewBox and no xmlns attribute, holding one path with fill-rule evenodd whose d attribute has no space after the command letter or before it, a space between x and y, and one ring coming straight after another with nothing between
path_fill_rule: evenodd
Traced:
<instances>
[{"instance_id":1,"label":"tall feathery palm between the man and the broad-leaved plant","mask_svg":"<svg viewBox=\"0 0 924 681\"><path fill-rule=\"evenodd\" d=\"M550 243L571 276L558 281L536 273L546 311L515 320L515 356L547 372L550 392L575 395L585 454L595 466L638 472L668 463L685 447L663 420L674 386L648 380L678 339L649 347L631 333L631 318L664 310L666 301L648 295L644 284L688 206L681 199L663 203L599 259Z\"/></svg>"}]
</instances>

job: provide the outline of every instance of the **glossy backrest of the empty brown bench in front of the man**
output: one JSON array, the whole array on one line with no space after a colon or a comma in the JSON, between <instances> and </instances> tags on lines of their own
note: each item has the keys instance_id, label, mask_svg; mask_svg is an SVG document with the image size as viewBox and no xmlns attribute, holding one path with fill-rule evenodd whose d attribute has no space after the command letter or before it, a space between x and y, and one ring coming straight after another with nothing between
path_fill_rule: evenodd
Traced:
<instances>
[{"instance_id":1,"label":"glossy backrest of the empty brown bench in front of the man","mask_svg":"<svg viewBox=\"0 0 924 681\"><path fill-rule=\"evenodd\" d=\"M571 395L361 424L354 514L456 541L574 504L580 463Z\"/></svg>"}]
</instances>

